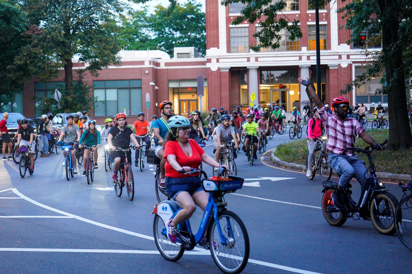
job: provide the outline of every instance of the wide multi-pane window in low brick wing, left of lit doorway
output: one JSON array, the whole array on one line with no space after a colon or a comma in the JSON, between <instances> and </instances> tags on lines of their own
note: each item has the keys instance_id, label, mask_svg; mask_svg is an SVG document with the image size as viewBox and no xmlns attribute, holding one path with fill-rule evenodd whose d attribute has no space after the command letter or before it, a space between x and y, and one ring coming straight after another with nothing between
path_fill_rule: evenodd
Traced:
<instances>
[{"instance_id":1,"label":"wide multi-pane window in low brick wing, left of lit doorway","mask_svg":"<svg viewBox=\"0 0 412 274\"><path fill-rule=\"evenodd\" d=\"M112 116L126 109L127 115L142 111L142 81L94 81L95 116Z\"/></svg>"}]
</instances>

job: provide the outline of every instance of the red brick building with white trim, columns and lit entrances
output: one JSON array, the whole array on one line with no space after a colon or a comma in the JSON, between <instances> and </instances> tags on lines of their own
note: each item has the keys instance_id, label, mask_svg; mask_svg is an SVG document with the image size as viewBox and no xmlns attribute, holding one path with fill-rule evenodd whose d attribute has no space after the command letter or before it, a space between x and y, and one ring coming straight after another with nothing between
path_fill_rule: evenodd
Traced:
<instances>
[{"instance_id":1,"label":"red brick building with white trim, columns and lit entrances","mask_svg":"<svg viewBox=\"0 0 412 274\"><path fill-rule=\"evenodd\" d=\"M176 114L187 115L195 109L206 111L211 107L232 110L268 102L283 105L287 112L294 106L302 109L308 102L304 89L297 82L298 77L316 79L315 11L306 0L288 0L283 16L300 20L303 37L295 41L287 33L280 33L283 39L279 49L263 49L252 52L250 44L258 43L253 34L258 25L233 26L232 21L240 14L243 4L222 6L220 0L206 0L206 56L198 58L195 48L175 48L173 58L163 51L120 51L122 63L101 70L98 77L86 75L85 81L94 87L98 98L94 110L89 110L98 123L117 112L133 118L139 111L147 118L159 114L156 104L163 100L173 102ZM345 22L336 10L345 3L333 2L322 7L320 17L321 46L321 99L330 102L339 95L344 84L363 72L365 56L357 42L346 44L349 32L339 30ZM279 15L282 16L282 15ZM380 44L368 45L379 49ZM73 69L87 64L73 60ZM204 76L204 95L197 93L197 77ZM387 106L386 95L375 95L380 87L380 77L371 79L361 88L353 88L348 95L352 104L382 102ZM17 95L15 102L6 104L7 111L20 111L26 117L39 116L36 100L52 97L56 87L63 84L61 77L47 83L32 79ZM315 84L316 86L316 84ZM150 102L147 109L146 95ZM24 98L29 98L23 103ZM36 98L35 100L30 100ZM82 111L82 109L80 109Z\"/></svg>"}]
</instances>

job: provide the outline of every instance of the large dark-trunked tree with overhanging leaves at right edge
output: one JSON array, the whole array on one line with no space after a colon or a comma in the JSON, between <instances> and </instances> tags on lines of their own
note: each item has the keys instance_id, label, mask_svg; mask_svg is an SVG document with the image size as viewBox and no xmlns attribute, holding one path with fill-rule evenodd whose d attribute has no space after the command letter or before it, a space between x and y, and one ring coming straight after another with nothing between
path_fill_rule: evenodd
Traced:
<instances>
[{"instance_id":1,"label":"large dark-trunked tree with overhanging leaves at right edge","mask_svg":"<svg viewBox=\"0 0 412 274\"><path fill-rule=\"evenodd\" d=\"M348 42L365 34L363 52L371 59L366 72L346 85L343 92L351 91L352 85L359 87L372 77L383 74L381 83L386 81L386 85L377 89L376 93L388 95L390 127L387 147L409 149L412 146L412 135L406 111L405 82L409 82L407 79L412 76L412 1L363 0L349 3L339 9L339 12L346 19L344 28L352 31ZM381 41L382 51L368 50L368 43Z\"/></svg>"}]
</instances>

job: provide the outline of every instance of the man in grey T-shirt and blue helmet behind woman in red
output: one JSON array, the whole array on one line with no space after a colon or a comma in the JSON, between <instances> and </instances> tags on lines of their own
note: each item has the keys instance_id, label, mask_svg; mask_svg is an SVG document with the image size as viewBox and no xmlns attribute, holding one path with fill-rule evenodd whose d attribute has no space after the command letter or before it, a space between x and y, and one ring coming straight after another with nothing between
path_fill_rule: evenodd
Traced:
<instances>
[{"instance_id":1,"label":"man in grey T-shirt and blue helmet behind woman in red","mask_svg":"<svg viewBox=\"0 0 412 274\"><path fill-rule=\"evenodd\" d=\"M219 162L220 151L222 150L222 148L229 144L230 136L232 136L232 138L235 140L234 148L237 149L237 147L239 146L237 142L235 130L231 125L229 125L229 121L230 121L230 116L228 114L223 114L222 123L215 128L216 134L214 135L212 139L212 145L213 145L213 149L216 150L215 152L216 162Z\"/></svg>"}]
</instances>

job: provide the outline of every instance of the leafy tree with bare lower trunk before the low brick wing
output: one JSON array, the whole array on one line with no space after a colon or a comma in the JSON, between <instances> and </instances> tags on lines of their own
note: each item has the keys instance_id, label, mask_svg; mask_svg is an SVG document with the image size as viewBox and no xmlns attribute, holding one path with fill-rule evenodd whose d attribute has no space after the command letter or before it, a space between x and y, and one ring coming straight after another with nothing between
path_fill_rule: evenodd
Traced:
<instances>
[{"instance_id":1,"label":"leafy tree with bare lower trunk before the low brick wing","mask_svg":"<svg viewBox=\"0 0 412 274\"><path fill-rule=\"evenodd\" d=\"M21 0L31 24L38 26L37 41L48 56L64 67L66 95L73 95L73 63L87 63L86 70L97 76L98 70L117 64L120 46L115 36L116 16L125 3L120 0Z\"/></svg>"}]
</instances>

